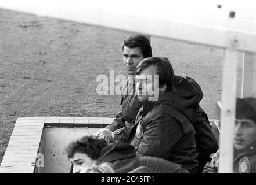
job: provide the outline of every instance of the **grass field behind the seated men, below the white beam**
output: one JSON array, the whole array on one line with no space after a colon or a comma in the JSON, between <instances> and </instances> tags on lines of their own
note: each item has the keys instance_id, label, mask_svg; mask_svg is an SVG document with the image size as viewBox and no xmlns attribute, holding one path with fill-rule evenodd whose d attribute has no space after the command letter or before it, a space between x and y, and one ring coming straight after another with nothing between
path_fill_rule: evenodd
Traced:
<instances>
[{"instance_id":1,"label":"grass field behind the seated men, below the white beam","mask_svg":"<svg viewBox=\"0 0 256 185\"><path fill-rule=\"evenodd\" d=\"M0 163L17 117L114 117L118 95L98 95L96 77L124 73L122 40L133 33L0 9ZM224 51L152 36L153 56L194 78L215 118Z\"/></svg>"}]
</instances>

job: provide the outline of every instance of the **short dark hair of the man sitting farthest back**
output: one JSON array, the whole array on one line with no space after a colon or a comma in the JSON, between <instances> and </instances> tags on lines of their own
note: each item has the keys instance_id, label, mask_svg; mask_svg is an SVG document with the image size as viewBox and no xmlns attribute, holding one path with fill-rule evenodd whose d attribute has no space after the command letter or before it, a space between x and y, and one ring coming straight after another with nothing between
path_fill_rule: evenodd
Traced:
<instances>
[{"instance_id":1,"label":"short dark hair of the man sitting farthest back","mask_svg":"<svg viewBox=\"0 0 256 185\"><path fill-rule=\"evenodd\" d=\"M151 45L145 35L136 34L130 36L128 39L124 40L122 50L124 50L124 46L129 48L139 47L142 51L143 58L152 57Z\"/></svg>"}]
</instances>

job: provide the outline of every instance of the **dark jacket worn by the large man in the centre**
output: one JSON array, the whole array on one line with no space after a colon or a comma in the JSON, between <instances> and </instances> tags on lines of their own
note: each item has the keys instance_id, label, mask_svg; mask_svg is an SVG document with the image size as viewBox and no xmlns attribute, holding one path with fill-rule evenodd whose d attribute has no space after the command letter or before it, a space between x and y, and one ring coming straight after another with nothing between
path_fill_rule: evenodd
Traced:
<instances>
[{"instance_id":1,"label":"dark jacket worn by the large man in the centre","mask_svg":"<svg viewBox=\"0 0 256 185\"><path fill-rule=\"evenodd\" d=\"M189 172L196 171L195 131L182 114L193 114L193 109L184 102L176 91L170 91L142 106L128 139L136 156L160 157L181 164Z\"/></svg>"}]
</instances>

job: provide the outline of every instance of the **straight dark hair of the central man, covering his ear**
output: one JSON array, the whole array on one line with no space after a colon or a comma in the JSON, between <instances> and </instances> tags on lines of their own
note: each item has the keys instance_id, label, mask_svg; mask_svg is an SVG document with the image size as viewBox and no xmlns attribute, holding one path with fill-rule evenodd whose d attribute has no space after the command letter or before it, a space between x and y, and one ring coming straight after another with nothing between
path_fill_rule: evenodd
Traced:
<instances>
[{"instance_id":1,"label":"straight dark hair of the central man, covering his ear","mask_svg":"<svg viewBox=\"0 0 256 185\"><path fill-rule=\"evenodd\" d=\"M174 90L174 69L168 58L165 57L149 57L143 59L139 62L138 66L136 67L136 75L149 67L150 65L154 65L156 68L156 75L159 75L159 86L164 86L166 84L167 91Z\"/></svg>"}]
</instances>

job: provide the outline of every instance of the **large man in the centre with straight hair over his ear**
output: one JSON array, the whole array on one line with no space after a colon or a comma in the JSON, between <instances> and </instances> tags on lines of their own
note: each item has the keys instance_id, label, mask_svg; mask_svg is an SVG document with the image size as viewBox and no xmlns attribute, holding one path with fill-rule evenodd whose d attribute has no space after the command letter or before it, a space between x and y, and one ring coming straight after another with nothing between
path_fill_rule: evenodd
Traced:
<instances>
[{"instance_id":1,"label":"large man in the centre with straight hair over his ear","mask_svg":"<svg viewBox=\"0 0 256 185\"><path fill-rule=\"evenodd\" d=\"M174 71L167 58L145 58L136 68L136 92L142 102L128 143L136 156L154 156L196 172L194 128L187 115L193 109L174 89Z\"/></svg>"}]
</instances>

